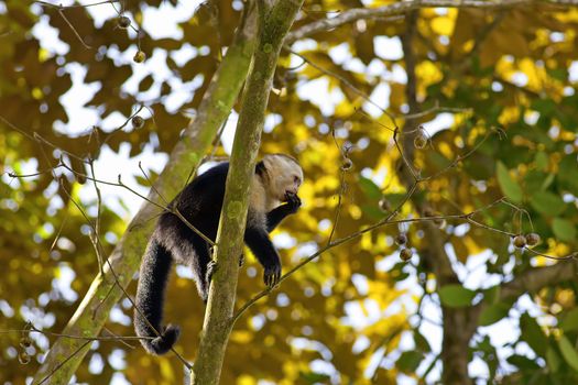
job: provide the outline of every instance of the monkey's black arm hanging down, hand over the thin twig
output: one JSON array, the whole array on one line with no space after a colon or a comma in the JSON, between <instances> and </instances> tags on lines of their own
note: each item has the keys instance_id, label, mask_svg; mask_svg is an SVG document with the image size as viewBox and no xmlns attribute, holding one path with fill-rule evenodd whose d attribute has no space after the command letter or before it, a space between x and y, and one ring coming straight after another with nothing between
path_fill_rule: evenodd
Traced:
<instances>
[{"instance_id":1,"label":"monkey's black arm hanging down, hand over the thin twig","mask_svg":"<svg viewBox=\"0 0 578 385\"><path fill-rule=\"evenodd\" d=\"M244 231L244 243L263 265L263 282L266 286L275 286L281 278L281 261L277 251L269 239L264 229L247 228Z\"/></svg>"}]
</instances>

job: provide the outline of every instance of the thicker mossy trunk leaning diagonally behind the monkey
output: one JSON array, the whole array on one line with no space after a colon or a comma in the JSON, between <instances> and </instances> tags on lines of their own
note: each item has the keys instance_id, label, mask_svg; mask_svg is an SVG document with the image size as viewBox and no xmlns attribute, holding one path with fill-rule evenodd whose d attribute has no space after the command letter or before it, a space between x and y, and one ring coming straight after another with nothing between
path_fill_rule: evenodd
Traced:
<instances>
[{"instance_id":1,"label":"thicker mossy trunk leaning diagonally behind the monkey","mask_svg":"<svg viewBox=\"0 0 578 385\"><path fill-rule=\"evenodd\" d=\"M227 119L247 77L255 35L255 18L247 14L237 31L235 42L227 51L207 89L196 119L171 153L165 169L149 194L152 202L159 201L157 194L164 197L175 196L187 179L192 166L210 148L212 139ZM106 264L105 274L99 274L95 278L63 334L98 336L108 319L110 309L122 297L123 288L130 284L139 270L141 256L154 224L149 219L153 218L156 211L157 208L153 204L144 202L129 224L129 230L109 256L110 265ZM89 345L83 346L84 343L83 340L58 338L36 372L33 383L37 384L48 373L53 373L44 383L67 384L89 349ZM76 351L78 352L75 354ZM67 360L66 364L62 365L65 360ZM58 367L57 371L54 371L55 367Z\"/></svg>"}]
</instances>

